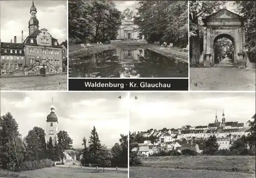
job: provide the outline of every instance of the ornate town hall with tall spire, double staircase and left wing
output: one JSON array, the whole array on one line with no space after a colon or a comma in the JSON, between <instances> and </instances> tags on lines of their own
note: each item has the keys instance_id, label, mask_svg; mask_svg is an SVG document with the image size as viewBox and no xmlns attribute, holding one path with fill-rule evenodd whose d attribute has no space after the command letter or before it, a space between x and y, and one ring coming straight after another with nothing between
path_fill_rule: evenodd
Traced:
<instances>
[{"instance_id":1,"label":"ornate town hall with tall spire, double staircase and left wing","mask_svg":"<svg viewBox=\"0 0 256 178\"><path fill-rule=\"evenodd\" d=\"M59 73L62 72L63 53L58 40L46 28L39 30L37 9L32 1L29 36L22 42L1 42L1 74ZM45 70L44 70L45 69Z\"/></svg>"}]
</instances>

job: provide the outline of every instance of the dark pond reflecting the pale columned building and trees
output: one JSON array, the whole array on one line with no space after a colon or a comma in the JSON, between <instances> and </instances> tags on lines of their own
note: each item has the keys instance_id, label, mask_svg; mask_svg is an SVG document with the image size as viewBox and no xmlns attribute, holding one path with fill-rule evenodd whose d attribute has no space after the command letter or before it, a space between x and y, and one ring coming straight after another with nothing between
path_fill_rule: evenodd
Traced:
<instances>
[{"instance_id":1,"label":"dark pond reflecting the pale columned building and trees","mask_svg":"<svg viewBox=\"0 0 256 178\"><path fill-rule=\"evenodd\" d=\"M72 59L72 77L138 78L188 77L188 63L165 57L144 48L117 48Z\"/></svg>"}]
</instances>

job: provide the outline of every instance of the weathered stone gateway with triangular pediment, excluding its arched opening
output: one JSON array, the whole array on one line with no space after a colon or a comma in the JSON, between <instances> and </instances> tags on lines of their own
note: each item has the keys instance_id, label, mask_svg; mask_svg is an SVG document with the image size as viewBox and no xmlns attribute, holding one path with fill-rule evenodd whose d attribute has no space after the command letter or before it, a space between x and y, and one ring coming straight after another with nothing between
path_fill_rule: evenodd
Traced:
<instances>
[{"instance_id":1,"label":"weathered stone gateway with triangular pediment, excluding its arched opening","mask_svg":"<svg viewBox=\"0 0 256 178\"><path fill-rule=\"evenodd\" d=\"M245 68L248 61L245 44L244 18L238 14L221 9L202 19L204 22L203 53L200 62L205 68L215 65L215 42L223 37L233 43L233 64L237 68Z\"/></svg>"}]
</instances>

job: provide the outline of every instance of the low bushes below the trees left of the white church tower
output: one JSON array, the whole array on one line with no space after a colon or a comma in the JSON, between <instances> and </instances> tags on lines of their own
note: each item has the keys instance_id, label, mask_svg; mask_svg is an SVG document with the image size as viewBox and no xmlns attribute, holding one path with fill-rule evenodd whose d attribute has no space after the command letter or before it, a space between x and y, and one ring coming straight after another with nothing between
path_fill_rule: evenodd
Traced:
<instances>
[{"instance_id":1,"label":"low bushes below the trees left of the white church tower","mask_svg":"<svg viewBox=\"0 0 256 178\"><path fill-rule=\"evenodd\" d=\"M22 164L20 164L20 170L21 171L35 170L35 169L41 169L45 167L52 167L52 166L54 166L54 162L51 160L25 161Z\"/></svg>"}]
</instances>

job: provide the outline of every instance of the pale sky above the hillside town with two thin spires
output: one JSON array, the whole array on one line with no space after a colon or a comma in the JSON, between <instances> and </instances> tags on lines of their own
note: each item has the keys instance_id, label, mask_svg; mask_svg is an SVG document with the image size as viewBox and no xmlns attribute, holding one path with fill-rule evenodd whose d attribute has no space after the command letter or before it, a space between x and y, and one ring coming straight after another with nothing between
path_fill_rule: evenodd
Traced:
<instances>
[{"instance_id":1,"label":"pale sky above the hillside town with two thin spires","mask_svg":"<svg viewBox=\"0 0 256 178\"><path fill-rule=\"evenodd\" d=\"M137 97L137 99L135 99ZM208 125L222 119L246 123L255 114L255 93L131 93L130 130Z\"/></svg>"}]
</instances>

